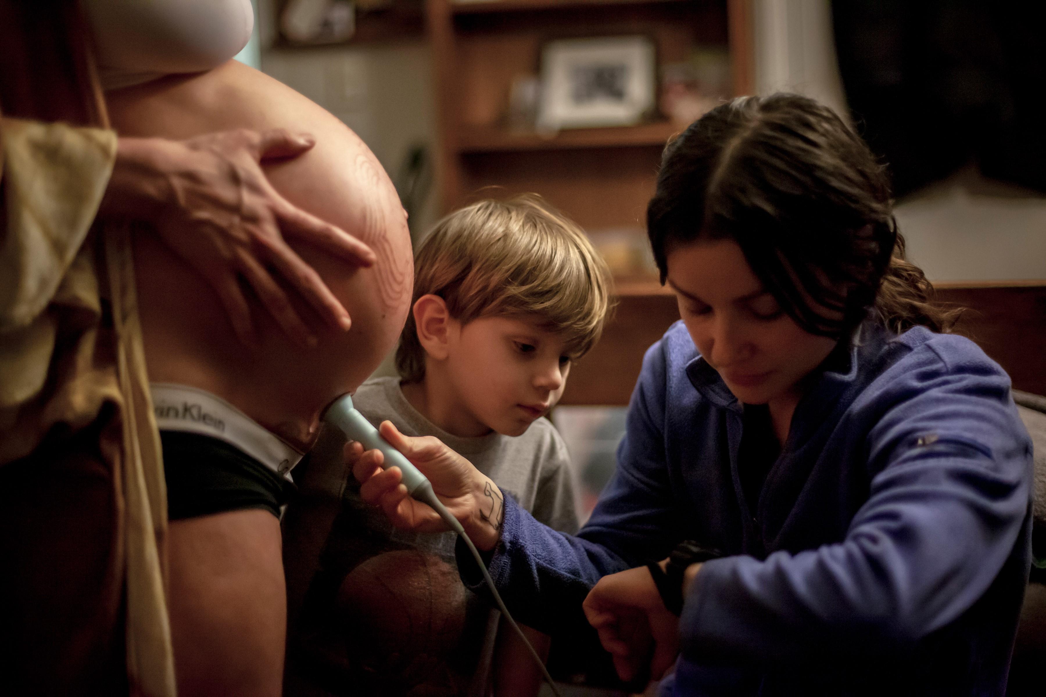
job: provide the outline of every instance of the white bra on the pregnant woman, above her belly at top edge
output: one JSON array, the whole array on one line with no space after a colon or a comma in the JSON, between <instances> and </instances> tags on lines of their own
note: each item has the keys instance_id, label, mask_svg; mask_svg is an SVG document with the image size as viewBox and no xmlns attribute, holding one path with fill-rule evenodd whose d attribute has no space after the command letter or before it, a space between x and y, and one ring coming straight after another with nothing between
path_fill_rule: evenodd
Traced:
<instances>
[{"instance_id":1,"label":"white bra on the pregnant woman, above her belly at top edge","mask_svg":"<svg viewBox=\"0 0 1046 697\"><path fill-rule=\"evenodd\" d=\"M113 90L225 63L254 28L250 0L82 0L101 86Z\"/></svg>"}]
</instances>

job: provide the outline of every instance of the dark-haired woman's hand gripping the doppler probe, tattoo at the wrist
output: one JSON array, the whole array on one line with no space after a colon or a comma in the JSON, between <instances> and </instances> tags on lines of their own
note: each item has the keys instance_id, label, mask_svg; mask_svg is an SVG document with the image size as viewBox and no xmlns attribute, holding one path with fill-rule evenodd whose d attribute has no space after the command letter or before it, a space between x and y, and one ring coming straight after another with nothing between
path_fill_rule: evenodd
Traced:
<instances>
[{"instance_id":1,"label":"dark-haired woman's hand gripping the doppler probe, tattoo at the wrist","mask_svg":"<svg viewBox=\"0 0 1046 697\"><path fill-rule=\"evenodd\" d=\"M428 478L436 496L461 522L476 547L493 550L504 520L504 501L497 485L438 438L404 436L390 421L382 422L379 432ZM360 482L360 497L380 506L396 528L415 532L448 529L430 506L407 493L399 467L382 469L385 456L380 450L364 451L354 441L345 445L345 459Z\"/></svg>"}]
</instances>

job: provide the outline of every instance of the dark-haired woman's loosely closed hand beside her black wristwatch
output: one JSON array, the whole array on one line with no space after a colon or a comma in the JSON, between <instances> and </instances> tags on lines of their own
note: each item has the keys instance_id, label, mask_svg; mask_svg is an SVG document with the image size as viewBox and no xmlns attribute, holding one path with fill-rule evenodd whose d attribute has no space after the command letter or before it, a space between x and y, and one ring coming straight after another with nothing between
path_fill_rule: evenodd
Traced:
<instances>
[{"instance_id":1,"label":"dark-haired woman's loosely closed hand beside her black wristwatch","mask_svg":"<svg viewBox=\"0 0 1046 697\"><path fill-rule=\"evenodd\" d=\"M676 663L679 618L665 608L645 566L602 577L583 608L622 680L636 679L647 665L659 679Z\"/></svg>"}]
</instances>

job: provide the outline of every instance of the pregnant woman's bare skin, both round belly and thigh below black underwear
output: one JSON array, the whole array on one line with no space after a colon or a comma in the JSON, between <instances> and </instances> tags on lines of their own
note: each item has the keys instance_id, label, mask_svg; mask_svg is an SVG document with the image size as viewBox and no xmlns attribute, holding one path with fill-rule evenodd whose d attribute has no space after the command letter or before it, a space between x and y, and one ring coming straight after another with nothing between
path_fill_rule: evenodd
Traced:
<instances>
[{"instance_id":1,"label":"pregnant woman's bare skin, both round belly and thigh below black underwear","mask_svg":"<svg viewBox=\"0 0 1046 697\"><path fill-rule=\"evenodd\" d=\"M213 292L155 237L135 236L150 379L207 390L289 442L308 444L323 406L373 371L408 311L410 237L384 170L331 114L234 62L110 93L108 102L123 136L181 139L287 127L316 138L313 150L268 165L267 175L291 203L377 253L373 268L360 269L295 247L350 313L347 333L326 329L318 346L301 349L259 311L254 321L262 345L249 352ZM309 316L305 304L299 305ZM179 694L280 694L286 597L278 520L265 511L241 510L173 521L168 555Z\"/></svg>"}]
</instances>

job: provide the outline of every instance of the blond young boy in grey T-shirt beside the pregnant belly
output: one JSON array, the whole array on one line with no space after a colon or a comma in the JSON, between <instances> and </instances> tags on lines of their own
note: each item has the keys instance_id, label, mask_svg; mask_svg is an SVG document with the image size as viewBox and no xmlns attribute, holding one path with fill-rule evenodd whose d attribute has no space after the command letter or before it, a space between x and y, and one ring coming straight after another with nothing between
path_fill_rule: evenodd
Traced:
<instances>
[{"instance_id":1,"label":"blond young boy in grey T-shirt beside the pregnant belly","mask_svg":"<svg viewBox=\"0 0 1046 697\"><path fill-rule=\"evenodd\" d=\"M537 519L575 532L567 450L544 416L602 329L602 259L576 225L525 196L447 216L414 265L400 376L368 380L354 403L374 424L439 438ZM325 433L299 465L285 519L287 694L537 694L529 653L462 585L454 534L393 530L360 501L344 442ZM548 637L524 631L547 654Z\"/></svg>"}]
</instances>

